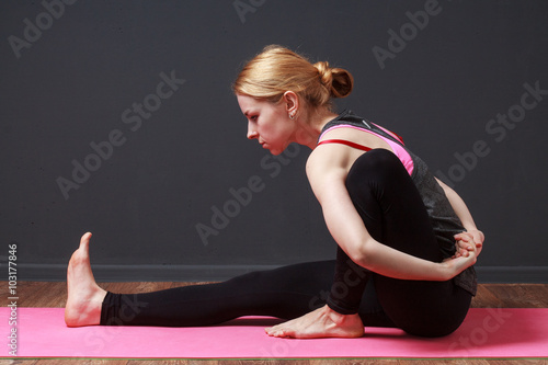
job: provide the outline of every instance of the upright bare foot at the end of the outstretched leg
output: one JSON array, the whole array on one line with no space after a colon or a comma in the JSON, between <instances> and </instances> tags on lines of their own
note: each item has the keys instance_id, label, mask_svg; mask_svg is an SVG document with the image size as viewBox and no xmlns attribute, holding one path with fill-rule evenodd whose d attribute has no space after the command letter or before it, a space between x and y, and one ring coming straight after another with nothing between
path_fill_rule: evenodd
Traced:
<instances>
[{"instance_id":1,"label":"upright bare foot at the end of the outstretched leg","mask_svg":"<svg viewBox=\"0 0 548 365\"><path fill-rule=\"evenodd\" d=\"M106 292L95 283L91 271L90 238L90 232L82 236L80 248L72 253L67 270L65 322L68 327L93 326L101 321L101 306Z\"/></svg>"}]
</instances>

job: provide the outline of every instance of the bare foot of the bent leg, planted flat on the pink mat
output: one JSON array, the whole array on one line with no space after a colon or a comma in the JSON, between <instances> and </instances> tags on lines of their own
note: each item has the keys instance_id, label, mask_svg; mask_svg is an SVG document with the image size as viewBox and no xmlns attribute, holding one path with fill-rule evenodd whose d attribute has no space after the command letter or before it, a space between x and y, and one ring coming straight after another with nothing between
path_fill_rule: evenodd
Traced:
<instances>
[{"instance_id":1,"label":"bare foot of the bent leg, planted flat on the pink mat","mask_svg":"<svg viewBox=\"0 0 548 365\"><path fill-rule=\"evenodd\" d=\"M275 338L359 338L364 335L364 324L358 315L345 316L323 306L302 317L266 328L265 331Z\"/></svg>"}]
</instances>

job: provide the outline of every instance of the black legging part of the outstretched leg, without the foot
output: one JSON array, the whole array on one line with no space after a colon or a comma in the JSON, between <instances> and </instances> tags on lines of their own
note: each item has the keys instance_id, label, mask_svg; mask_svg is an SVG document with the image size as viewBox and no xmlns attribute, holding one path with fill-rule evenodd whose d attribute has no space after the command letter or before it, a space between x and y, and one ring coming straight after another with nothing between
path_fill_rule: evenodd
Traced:
<instances>
[{"instance_id":1,"label":"black legging part of the outstretched leg, without the foot","mask_svg":"<svg viewBox=\"0 0 548 365\"><path fill-rule=\"evenodd\" d=\"M109 293L101 324L210 326L241 316L292 319L324 304L334 261L259 271L216 284L144 294Z\"/></svg>"}]
</instances>

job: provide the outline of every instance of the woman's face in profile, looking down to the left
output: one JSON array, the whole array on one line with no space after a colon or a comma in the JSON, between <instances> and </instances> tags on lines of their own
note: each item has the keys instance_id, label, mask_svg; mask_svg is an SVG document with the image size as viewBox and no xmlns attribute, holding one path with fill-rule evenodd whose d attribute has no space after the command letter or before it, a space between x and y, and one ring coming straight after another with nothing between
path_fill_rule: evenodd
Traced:
<instances>
[{"instance_id":1,"label":"woman's face in profile, looking down to the left","mask_svg":"<svg viewBox=\"0 0 548 365\"><path fill-rule=\"evenodd\" d=\"M296 123L288 116L284 101L272 104L248 95L238 95L241 112L248 118L248 138L256 139L272 155L282 153L294 141Z\"/></svg>"}]
</instances>

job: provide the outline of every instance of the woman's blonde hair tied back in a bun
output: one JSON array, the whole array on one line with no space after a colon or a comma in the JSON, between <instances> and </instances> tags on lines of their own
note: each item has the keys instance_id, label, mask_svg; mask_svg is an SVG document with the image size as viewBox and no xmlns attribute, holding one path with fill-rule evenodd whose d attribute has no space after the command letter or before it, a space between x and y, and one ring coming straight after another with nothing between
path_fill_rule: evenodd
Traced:
<instances>
[{"instance_id":1,"label":"woman's blonde hair tied back in a bun","mask_svg":"<svg viewBox=\"0 0 548 365\"><path fill-rule=\"evenodd\" d=\"M304 56L278 45L266 46L247 62L232 84L236 94L277 103L286 91L295 92L307 106L331 110L333 98L352 92L354 79L327 61L311 64Z\"/></svg>"}]
</instances>

